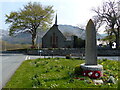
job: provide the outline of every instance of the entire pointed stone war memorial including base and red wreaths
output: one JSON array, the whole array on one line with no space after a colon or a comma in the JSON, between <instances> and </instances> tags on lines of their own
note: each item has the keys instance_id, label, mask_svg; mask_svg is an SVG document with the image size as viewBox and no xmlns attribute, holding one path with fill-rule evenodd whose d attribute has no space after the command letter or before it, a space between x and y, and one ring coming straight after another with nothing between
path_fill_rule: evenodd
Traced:
<instances>
[{"instance_id":1,"label":"entire pointed stone war memorial including base and red wreaths","mask_svg":"<svg viewBox=\"0 0 120 90\"><path fill-rule=\"evenodd\" d=\"M86 26L85 64L80 66L84 76L99 78L103 75L103 66L97 64L96 29L91 19Z\"/></svg>"}]
</instances>

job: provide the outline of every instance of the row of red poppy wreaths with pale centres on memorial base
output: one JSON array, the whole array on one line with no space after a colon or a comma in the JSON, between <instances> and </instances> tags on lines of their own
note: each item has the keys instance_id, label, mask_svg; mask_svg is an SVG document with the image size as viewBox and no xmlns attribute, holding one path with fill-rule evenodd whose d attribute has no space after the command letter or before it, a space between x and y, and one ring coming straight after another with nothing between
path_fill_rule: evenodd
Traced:
<instances>
[{"instance_id":1,"label":"row of red poppy wreaths with pale centres on memorial base","mask_svg":"<svg viewBox=\"0 0 120 90\"><path fill-rule=\"evenodd\" d=\"M87 70L87 71L83 71L82 75L83 76L88 76L90 78L99 78L99 77L101 77L101 71L90 71L90 70Z\"/></svg>"}]
</instances>

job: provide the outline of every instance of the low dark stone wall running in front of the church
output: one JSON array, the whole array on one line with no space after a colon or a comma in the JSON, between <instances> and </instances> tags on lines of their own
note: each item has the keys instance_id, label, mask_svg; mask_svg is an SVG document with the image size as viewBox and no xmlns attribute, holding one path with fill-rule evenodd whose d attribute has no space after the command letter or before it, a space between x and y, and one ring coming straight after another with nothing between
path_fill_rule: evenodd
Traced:
<instances>
[{"instance_id":1,"label":"low dark stone wall running in front of the church","mask_svg":"<svg viewBox=\"0 0 120 90\"><path fill-rule=\"evenodd\" d=\"M27 54L31 55L59 55L59 56L65 56L71 54L72 56L81 56L85 55L85 49L42 49L42 52L40 50L28 50ZM120 50L97 50L98 56L120 56Z\"/></svg>"}]
</instances>

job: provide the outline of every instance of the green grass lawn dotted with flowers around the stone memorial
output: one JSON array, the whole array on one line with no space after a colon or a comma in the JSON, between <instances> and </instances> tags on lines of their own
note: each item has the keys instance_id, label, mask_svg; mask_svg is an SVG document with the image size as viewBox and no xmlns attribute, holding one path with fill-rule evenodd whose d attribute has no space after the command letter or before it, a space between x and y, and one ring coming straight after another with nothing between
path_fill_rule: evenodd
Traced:
<instances>
[{"instance_id":1,"label":"green grass lawn dotted with flowers around the stone memorial","mask_svg":"<svg viewBox=\"0 0 120 90\"><path fill-rule=\"evenodd\" d=\"M118 61L98 60L103 65L105 83L95 85L92 79L76 76L74 69L84 63L79 59L46 58L24 61L4 88L117 88L118 83L107 83L109 76L118 80ZM79 77L79 79L76 79ZM89 82L88 82L89 81Z\"/></svg>"}]
</instances>

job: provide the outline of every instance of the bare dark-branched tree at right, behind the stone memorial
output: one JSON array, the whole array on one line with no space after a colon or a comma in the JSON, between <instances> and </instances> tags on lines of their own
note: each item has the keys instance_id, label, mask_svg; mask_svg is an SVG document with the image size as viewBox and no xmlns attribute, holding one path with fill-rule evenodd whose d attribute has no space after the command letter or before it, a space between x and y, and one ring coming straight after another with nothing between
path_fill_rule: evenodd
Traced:
<instances>
[{"instance_id":1,"label":"bare dark-branched tree at right, behind the stone memorial","mask_svg":"<svg viewBox=\"0 0 120 90\"><path fill-rule=\"evenodd\" d=\"M109 36L115 35L115 43L116 48L119 47L119 32L120 32L120 11L119 11L119 3L115 1L104 2L102 7L98 7L97 9L93 9L96 15L96 20L100 23L106 23L107 30ZM98 23L97 22L97 23ZM99 24L98 23L98 24ZM111 43L111 42L110 42Z\"/></svg>"}]
</instances>

